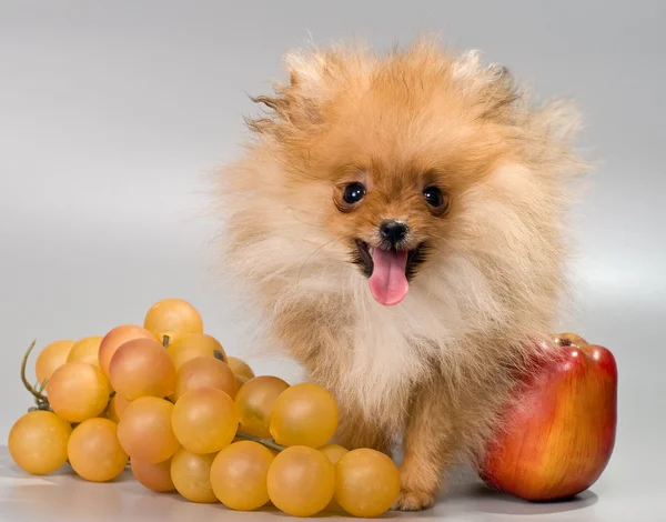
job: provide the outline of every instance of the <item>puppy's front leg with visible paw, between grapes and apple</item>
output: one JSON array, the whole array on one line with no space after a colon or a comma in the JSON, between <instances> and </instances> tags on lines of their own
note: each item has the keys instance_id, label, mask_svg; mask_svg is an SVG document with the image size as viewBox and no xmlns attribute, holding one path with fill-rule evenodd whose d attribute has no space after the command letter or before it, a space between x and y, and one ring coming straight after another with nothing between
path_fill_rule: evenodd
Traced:
<instances>
[{"instance_id":1,"label":"puppy's front leg with visible paw, between grapes and apple","mask_svg":"<svg viewBox=\"0 0 666 522\"><path fill-rule=\"evenodd\" d=\"M453 451L453 423L446 416L444 398L433 383L423 388L414 400L404 434L402 491L394 509L430 508L444 490L444 471Z\"/></svg>"}]
</instances>

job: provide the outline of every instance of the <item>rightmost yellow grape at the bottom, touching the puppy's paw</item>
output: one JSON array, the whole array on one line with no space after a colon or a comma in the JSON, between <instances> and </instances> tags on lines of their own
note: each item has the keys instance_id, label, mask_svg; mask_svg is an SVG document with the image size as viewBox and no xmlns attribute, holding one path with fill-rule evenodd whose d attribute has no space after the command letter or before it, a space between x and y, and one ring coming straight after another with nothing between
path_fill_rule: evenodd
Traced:
<instances>
[{"instance_id":1,"label":"rightmost yellow grape at the bottom, touching the puppy's paw","mask_svg":"<svg viewBox=\"0 0 666 522\"><path fill-rule=\"evenodd\" d=\"M335 501L354 516L380 516L398 493L400 472L384 453L367 448L353 450L335 464Z\"/></svg>"}]
</instances>

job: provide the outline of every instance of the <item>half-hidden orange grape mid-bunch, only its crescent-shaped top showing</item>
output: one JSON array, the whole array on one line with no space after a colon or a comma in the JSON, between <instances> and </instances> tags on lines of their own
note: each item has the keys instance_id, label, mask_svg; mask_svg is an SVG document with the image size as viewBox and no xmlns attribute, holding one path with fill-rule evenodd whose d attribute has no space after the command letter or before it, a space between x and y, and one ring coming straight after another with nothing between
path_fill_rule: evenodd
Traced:
<instances>
[{"instance_id":1,"label":"half-hidden orange grape mid-bunch, only its crescent-shaped top showing","mask_svg":"<svg viewBox=\"0 0 666 522\"><path fill-rule=\"evenodd\" d=\"M235 379L231 369L222 361L211 357L198 357L185 362L175 375L175 392L178 399L188 390L194 388L218 388L232 399L235 396Z\"/></svg>"}]
</instances>

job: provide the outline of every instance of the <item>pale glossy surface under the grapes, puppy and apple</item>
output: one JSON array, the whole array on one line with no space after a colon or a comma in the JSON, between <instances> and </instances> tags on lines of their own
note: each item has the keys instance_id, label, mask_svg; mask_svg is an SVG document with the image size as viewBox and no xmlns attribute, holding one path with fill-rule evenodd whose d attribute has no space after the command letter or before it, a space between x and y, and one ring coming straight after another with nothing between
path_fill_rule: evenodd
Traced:
<instances>
[{"instance_id":1,"label":"pale glossy surface under the grapes, puppy and apple","mask_svg":"<svg viewBox=\"0 0 666 522\"><path fill-rule=\"evenodd\" d=\"M450 522L658 522L655 500L663 493L656 483L627 482L622 494L602 482L576 500L534 504L522 502L488 490L475 476L461 472L453 478L452 491L445 501L420 513L389 512L386 520L437 519ZM222 504L194 504L173 493L153 493L132 479L131 472L113 482L85 482L69 469L48 478L29 476L11 462L7 448L0 449L0 520L13 522L185 522L185 521L275 521L284 514L274 508L244 513ZM322 513L317 518L341 516ZM344 520L353 520L343 516ZM299 519L293 519L299 520ZM362 519L359 519L362 520Z\"/></svg>"}]
</instances>

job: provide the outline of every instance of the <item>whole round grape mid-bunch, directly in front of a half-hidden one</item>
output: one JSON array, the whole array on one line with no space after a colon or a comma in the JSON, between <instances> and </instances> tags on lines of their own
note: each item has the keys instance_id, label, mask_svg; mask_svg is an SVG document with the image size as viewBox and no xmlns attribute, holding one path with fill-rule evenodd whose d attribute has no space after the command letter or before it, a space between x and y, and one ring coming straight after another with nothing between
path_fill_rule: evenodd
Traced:
<instances>
[{"instance_id":1,"label":"whole round grape mid-bunch, directly in front of a half-hidden one","mask_svg":"<svg viewBox=\"0 0 666 522\"><path fill-rule=\"evenodd\" d=\"M194 453L213 453L233 441L239 414L233 400L222 390L195 388L178 400L171 424L175 438L185 449Z\"/></svg>"}]
</instances>

